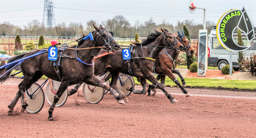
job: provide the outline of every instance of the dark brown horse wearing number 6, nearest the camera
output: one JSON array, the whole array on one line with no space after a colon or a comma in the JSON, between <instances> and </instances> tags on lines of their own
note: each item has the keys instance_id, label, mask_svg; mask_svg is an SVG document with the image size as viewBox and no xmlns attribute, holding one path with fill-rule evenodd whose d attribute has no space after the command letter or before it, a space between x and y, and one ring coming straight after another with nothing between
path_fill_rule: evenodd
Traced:
<instances>
[{"instance_id":1,"label":"dark brown horse wearing number 6, nearest the camera","mask_svg":"<svg viewBox=\"0 0 256 138\"><path fill-rule=\"evenodd\" d=\"M101 25L100 27L94 26L94 28L95 31L77 40L78 45L67 47L66 50L63 51L59 72L57 72L52 66L52 62L47 60L48 53L26 59L21 63L24 79L18 86L19 91L17 92L16 97L8 105L10 110L8 111L9 115L12 114L13 108L21 96L23 98L23 101L21 102L21 112L25 111L26 106L29 103L27 103L26 94L24 94L24 92L30 88L33 83L40 79L42 75L61 82L56 96L54 97L54 102L48 110L48 120L50 121L53 120L52 112L59 98L62 96L62 93L67 89L68 86L79 82L84 82L86 84L107 89L111 92L114 98L116 98L118 103L125 104L114 89L93 75L94 55L97 55L103 47L106 49L110 48L112 52L116 52L120 47L120 45L113 39L113 33L107 31ZM85 38L90 38L90 40ZM31 53L24 54L22 57L26 57L28 55L31 55ZM21 57L17 56L10 58L8 62L15 61L18 58Z\"/></svg>"}]
</instances>

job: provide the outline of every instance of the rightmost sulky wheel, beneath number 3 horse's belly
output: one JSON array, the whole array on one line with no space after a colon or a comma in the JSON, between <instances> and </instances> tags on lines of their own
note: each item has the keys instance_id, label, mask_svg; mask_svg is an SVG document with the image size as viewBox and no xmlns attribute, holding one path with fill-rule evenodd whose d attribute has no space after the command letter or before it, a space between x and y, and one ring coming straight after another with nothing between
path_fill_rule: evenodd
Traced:
<instances>
[{"instance_id":1,"label":"rightmost sulky wheel, beneath number 3 horse's belly","mask_svg":"<svg viewBox=\"0 0 256 138\"><path fill-rule=\"evenodd\" d=\"M126 74L120 74L120 78L121 78L121 82L123 83L121 85L120 79L117 80L116 83L116 87L121 90L121 92L123 92L125 94L125 96L129 96L131 94L130 91L127 91L126 88L129 86L133 86L134 87L134 83L131 79L131 77L129 77Z\"/></svg>"}]
</instances>

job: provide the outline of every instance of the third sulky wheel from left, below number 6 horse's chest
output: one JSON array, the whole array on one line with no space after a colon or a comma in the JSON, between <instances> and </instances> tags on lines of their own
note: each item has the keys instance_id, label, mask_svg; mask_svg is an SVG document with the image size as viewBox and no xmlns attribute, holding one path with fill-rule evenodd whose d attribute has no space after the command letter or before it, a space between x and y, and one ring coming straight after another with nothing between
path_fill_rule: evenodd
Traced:
<instances>
[{"instance_id":1,"label":"third sulky wheel from left, below number 6 horse's chest","mask_svg":"<svg viewBox=\"0 0 256 138\"><path fill-rule=\"evenodd\" d=\"M101 79L99 76L97 78ZM98 103L104 96L105 90L101 87L96 87L84 83L83 95L87 102Z\"/></svg>"}]
</instances>

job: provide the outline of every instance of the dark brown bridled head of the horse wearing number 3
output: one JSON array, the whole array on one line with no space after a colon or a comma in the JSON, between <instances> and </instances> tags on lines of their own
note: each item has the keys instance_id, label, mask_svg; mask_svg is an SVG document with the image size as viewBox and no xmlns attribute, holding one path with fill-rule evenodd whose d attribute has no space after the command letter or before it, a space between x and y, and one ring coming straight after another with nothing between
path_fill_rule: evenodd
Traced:
<instances>
[{"instance_id":1,"label":"dark brown bridled head of the horse wearing number 3","mask_svg":"<svg viewBox=\"0 0 256 138\"><path fill-rule=\"evenodd\" d=\"M170 47L171 49L176 50L178 52L183 51L183 45L176 39L175 36L172 35L172 33L165 31L165 29L162 28L161 30L164 36L164 46L166 46L167 48Z\"/></svg>"}]
</instances>

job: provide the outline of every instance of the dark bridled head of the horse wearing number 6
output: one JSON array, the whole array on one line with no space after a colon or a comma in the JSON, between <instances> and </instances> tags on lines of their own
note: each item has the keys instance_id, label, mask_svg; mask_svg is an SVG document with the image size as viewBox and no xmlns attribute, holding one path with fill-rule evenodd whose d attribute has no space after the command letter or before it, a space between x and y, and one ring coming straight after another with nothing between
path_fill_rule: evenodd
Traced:
<instances>
[{"instance_id":1,"label":"dark bridled head of the horse wearing number 6","mask_svg":"<svg viewBox=\"0 0 256 138\"><path fill-rule=\"evenodd\" d=\"M119 50L120 45L114 40L114 34L112 32L107 31L101 25L100 27L93 25L93 27L96 30L95 33L93 33L93 37L96 38L96 42L99 46L105 46L106 49L111 48L112 52Z\"/></svg>"}]
</instances>

